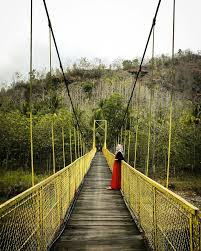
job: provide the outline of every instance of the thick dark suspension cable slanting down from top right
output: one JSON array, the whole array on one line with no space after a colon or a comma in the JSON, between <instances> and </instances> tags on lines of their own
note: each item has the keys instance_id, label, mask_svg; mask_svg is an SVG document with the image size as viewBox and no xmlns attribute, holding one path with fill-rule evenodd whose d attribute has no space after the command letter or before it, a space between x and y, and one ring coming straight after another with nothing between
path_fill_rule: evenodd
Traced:
<instances>
[{"instance_id":1,"label":"thick dark suspension cable slanting down from top right","mask_svg":"<svg viewBox=\"0 0 201 251\"><path fill-rule=\"evenodd\" d=\"M143 52L143 56L142 56L142 59L141 59L140 65L139 65L139 69L138 69L136 78L135 78L134 83L133 83L133 88L132 88L132 91L131 91L131 95L130 95L130 98L129 98L129 100L128 100L127 107L126 107L126 111L125 111L125 113L124 113L122 122L120 123L120 126L119 126L119 128L118 128L118 130L117 130L117 134L119 134L119 131L121 130L121 128L122 128L122 126L123 126L123 124L124 124L126 115L127 115L127 113L128 113L129 107L130 107L131 100L132 100L132 98L133 98L135 86L136 86L136 84L137 84L138 78L139 78L140 73L141 73L141 71L142 71L142 65L143 65L143 62L144 62L145 54L146 54L146 51L147 51L147 47L148 47L148 45L149 45L149 41L150 41L150 37L151 37L152 31L153 31L153 28L154 28L154 26L155 26L155 24L156 24L156 18L157 18L157 15L158 15L158 11L159 11L160 4L161 4L161 0L158 1L158 5L157 5L156 11L155 11L155 15L154 15L154 18L153 18L153 21L152 21L151 29L150 29L150 31L149 31L149 35L148 35L148 39L147 39L147 42L146 42L146 45L145 45L145 49L144 49L144 52Z\"/></svg>"}]
</instances>

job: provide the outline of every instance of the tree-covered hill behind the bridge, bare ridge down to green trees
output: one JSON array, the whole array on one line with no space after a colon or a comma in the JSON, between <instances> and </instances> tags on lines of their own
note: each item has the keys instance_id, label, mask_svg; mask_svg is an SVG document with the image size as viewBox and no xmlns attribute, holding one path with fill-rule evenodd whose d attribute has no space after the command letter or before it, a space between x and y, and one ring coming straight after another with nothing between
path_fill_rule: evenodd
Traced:
<instances>
[{"instance_id":1,"label":"tree-covered hill behind the bridge, bare ridge down to green trees","mask_svg":"<svg viewBox=\"0 0 201 251\"><path fill-rule=\"evenodd\" d=\"M139 60L116 61L110 67L93 65L81 59L67 69L70 92L88 145L91 144L93 119L107 119L108 144L113 147ZM172 86L172 61L168 56L147 60L138 81L125 125L125 140L131 132L130 163L134 159L136 123L139 122L137 165L144 171L147 155L149 100L152 106L152 136L150 166L152 173L167 165L170 90L173 90L173 135L171 171L201 170L201 54L179 51L175 57L176 81ZM66 151L69 129L73 131L71 107L59 70L50 74L33 72L33 140L35 168L39 173L52 170L51 122L55 122L56 166L62 168L61 125L65 129ZM140 87L140 88L139 88ZM139 93L140 89L140 93ZM30 169L29 152L29 83L20 74L12 85L0 91L0 168L2 170ZM139 98L137 98L139 93ZM139 116L137 116L137 100ZM137 117L139 118L137 120ZM101 135L98 135L98 137ZM124 142L125 143L125 142ZM126 146L126 143L125 143ZM128 156L125 149L126 157ZM70 162L67 154L67 163Z\"/></svg>"}]
</instances>

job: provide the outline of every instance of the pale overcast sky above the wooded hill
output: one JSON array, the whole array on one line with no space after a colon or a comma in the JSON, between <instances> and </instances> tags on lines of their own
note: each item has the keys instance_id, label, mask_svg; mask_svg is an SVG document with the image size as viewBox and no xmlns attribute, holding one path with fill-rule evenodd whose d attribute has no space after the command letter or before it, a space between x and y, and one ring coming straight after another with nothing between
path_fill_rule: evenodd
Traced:
<instances>
[{"instance_id":1,"label":"pale overcast sky above the wooded hill","mask_svg":"<svg viewBox=\"0 0 201 251\"><path fill-rule=\"evenodd\" d=\"M87 57L112 62L140 57L158 0L47 0L64 66ZM156 26L156 54L171 52L172 3L162 0ZM33 65L48 68L48 26L42 0L33 0ZM201 49L201 0L176 0L178 49ZM0 83L29 71L30 0L0 1ZM147 56L150 56L151 46ZM53 51L53 66L58 61Z\"/></svg>"}]
</instances>

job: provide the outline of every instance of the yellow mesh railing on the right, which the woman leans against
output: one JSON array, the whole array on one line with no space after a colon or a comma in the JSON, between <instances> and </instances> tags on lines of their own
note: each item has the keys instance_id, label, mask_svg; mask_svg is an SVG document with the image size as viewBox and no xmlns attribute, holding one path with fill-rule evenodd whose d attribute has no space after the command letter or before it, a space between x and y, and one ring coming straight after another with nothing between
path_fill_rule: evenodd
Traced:
<instances>
[{"instance_id":1,"label":"yellow mesh railing on the right, which the woman leans against","mask_svg":"<svg viewBox=\"0 0 201 251\"><path fill-rule=\"evenodd\" d=\"M114 155L103 149L112 170ZM122 162L121 190L131 213L158 251L201 251L201 215L198 208Z\"/></svg>"}]
</instances>

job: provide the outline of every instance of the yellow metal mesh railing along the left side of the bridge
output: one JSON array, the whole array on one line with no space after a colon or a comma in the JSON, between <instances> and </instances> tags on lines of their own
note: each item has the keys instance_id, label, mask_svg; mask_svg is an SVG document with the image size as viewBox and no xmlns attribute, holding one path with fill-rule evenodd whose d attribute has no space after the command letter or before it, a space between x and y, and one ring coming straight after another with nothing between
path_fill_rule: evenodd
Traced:
<instances>
[{"instance_id":1,"label":"yellow metal mesh railing along the left side of the bridge","mask_svg":"<svg viewBox=\"0 0 201 251\"><path fill-rule=\"evenodd\" d=\"M0 250L47 250L96 149L0 206Z\"/></svg>"}]
</instances>

